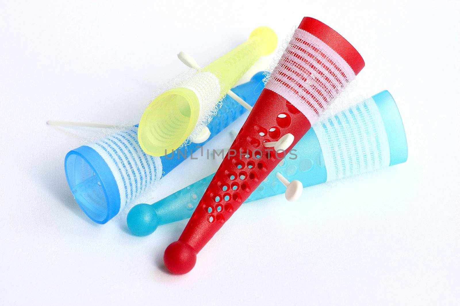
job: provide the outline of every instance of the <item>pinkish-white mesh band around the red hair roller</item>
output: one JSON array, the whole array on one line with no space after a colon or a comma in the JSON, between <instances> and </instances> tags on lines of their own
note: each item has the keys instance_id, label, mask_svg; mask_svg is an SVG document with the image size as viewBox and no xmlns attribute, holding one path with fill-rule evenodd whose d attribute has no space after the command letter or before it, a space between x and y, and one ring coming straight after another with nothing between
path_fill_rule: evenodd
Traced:
<instances>
[{"instance_id":1,"label":"pinkish-white mesh band around the red hair roller","mask_svg":"<svg viewBox=\"0 0 460 306\"><path fill-rule=\"evenodd\" d=\"M287 99L314 124L355 77L337 52L298 28L265 88Z\"/></svg>"}]
</instances>

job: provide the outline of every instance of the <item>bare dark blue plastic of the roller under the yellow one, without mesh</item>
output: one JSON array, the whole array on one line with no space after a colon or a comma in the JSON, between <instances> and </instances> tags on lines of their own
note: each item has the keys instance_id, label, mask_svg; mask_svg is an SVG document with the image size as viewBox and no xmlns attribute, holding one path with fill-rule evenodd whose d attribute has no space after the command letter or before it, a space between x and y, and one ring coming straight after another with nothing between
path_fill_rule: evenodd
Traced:
<instances>
[{"instance_id":1,"label":"bare dark blue plastic of the roller under the yellow one, without mesh","mask_svg":"<svg viewBox=\"0 0 460 306\"><path fill-rule=\"evenodd\" d=\"M264 88L263 79L264 72L258 72L249 82L236 86L232 91L253 106ZM226 96L217 115L208 124L211 135L207 141L240 117L244 111L246 109L243 106L230 96ZM137 138L134 137L130 141L138 145ZM190 156L192 151L200 150L199 147L207 141L201 144L192 143L186 148L181 148L180 150L185 154L185 157L177 153L161 156L163 174L166 175L177 167ZM130 150L127 154L138 154L136 152L137 150ZM76 202L92 221L100 224L107 223L120 211L120 207L124 203L121 203L115 177L107 163L94 149L81 146L71 150L65 157L64 169L69 188ZM134 180L130 184L136 184L131 187L137 189L139 183Z\"/></svg>"}]
</instances>

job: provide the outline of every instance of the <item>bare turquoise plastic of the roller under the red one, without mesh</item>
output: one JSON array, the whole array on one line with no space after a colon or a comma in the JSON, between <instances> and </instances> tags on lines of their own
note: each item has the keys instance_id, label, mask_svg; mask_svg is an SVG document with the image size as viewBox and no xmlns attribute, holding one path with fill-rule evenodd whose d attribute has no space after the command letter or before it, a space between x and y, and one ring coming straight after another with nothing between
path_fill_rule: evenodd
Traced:
<instances>
[{"instance_id":1,"label":"bare turquoise plastic of the roller under the red one, without mesh","mask_svg":"<svg viewBox=\"0 0 460 306\"><path fill-rule=\"evenodd\" d=\"M373 99L379 107L389 138L391 165L402 163L407 160L407 144L396 103L388 91L374 95ZM298 157L292 159L294 156L288 155L284 163L269 174L245 203L283 194L286 187L276 178L276 172L281 172L289 181L299 180L304 187L326 182L321 146L312 128L294 146L294 150L292 153ZM211 174L202 178L152 205L134 206L127 216L128 228L132 234L145 236L153 233L158 225L190 218L213 177L214 174Z\"/></svg>"}]
</instances>

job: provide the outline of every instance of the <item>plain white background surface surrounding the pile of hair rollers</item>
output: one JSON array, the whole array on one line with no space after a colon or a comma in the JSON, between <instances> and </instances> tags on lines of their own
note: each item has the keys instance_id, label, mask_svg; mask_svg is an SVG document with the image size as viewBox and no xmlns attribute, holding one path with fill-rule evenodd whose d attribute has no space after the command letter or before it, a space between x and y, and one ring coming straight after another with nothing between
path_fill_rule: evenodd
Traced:
<instances>
[{"instance_id":1,"label":"plain white background surface surrounding the pile of hair rollers","mask_svg":"<svg viewBox=\"0 0 460 306\"><path fill-rule=\"evenodd\" d=\"M0 0L0 304L458 303L459 15L458 1ZM178 51L206 64L259 25L282 40L304 16L359 50L362 90L393 94L405 164L307 188L296 203L243 205L184 276L166 273L162 255L186 221L138 238L81 212L63 159L95 131L47 120L137 123L185 70ZM184 162L155 200L215 167Z\"/></svg>"}]
</instances>

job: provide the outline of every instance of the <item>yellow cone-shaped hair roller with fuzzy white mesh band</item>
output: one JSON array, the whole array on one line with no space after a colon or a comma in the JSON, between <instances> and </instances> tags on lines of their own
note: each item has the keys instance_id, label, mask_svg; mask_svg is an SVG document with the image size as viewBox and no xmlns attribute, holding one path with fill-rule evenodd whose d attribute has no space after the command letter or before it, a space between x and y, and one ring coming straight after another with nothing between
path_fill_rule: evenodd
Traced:
<instances>
[{"instance_id":1,"label":"yellow cone-shaped hair roller with fuzzy white mesh band","mask_svg":"<svg viewBox=\"0 0 460 306\"><path fill-rule=\"evenodd\" d=\"M219 100L255 61L273 52L276 45L277 37L272 29L256 28L247 41L196 70L179 87L156 97L145 109L139 123L138 139L144 152L163 156L188 144L189 140L201 138L217 111ZM183 52L178 56L187 63ZM194 63L189 64L198 68Z\"/></svg>"}]
</instances>

